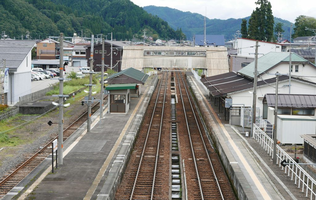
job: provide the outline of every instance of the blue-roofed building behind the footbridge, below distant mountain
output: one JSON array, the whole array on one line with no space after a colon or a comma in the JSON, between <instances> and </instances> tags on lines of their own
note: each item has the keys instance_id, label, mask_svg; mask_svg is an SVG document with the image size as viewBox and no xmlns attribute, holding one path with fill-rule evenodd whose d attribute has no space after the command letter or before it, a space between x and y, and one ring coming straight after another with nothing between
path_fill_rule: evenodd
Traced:
<instances>
[{"instance_id":1,"label":"blue-roofed building behind the footbridge, below distant mountain","mask_svg":"<svg viewBox=\"0 0 316 200\"><path fill-rule=\"evenodd\" d=\"M224 35L206 35L206 44L204 44L204 35L194 35L194 46L197 47L225 47Z\"/></svg>"}]
</instances>

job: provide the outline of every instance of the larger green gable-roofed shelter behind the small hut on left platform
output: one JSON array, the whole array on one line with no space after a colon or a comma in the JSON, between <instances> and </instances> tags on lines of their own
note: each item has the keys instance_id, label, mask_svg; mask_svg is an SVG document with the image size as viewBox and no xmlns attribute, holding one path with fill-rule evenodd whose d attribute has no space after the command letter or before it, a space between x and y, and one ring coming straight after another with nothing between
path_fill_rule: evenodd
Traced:
<instances>
[{"instance_id":1,"label":"larger green gable-roofed shelter behind the small hut on left platform","mask_svg":"<svg viewBox=\"0 0 316 200\"><path fill-rule=\"evenodd\" d=\"M122 85L122 84L137 84L134 89L131 90L131 95L135 95L139 97L141 94L141 85L143 85L147 78L149 77L148 74L145 74L138 69L134 68L127 68L118 73L115 73L109 76L106 79L106 83L108 84L115 84L115 85Z\"/></svg>"}]
</instances>

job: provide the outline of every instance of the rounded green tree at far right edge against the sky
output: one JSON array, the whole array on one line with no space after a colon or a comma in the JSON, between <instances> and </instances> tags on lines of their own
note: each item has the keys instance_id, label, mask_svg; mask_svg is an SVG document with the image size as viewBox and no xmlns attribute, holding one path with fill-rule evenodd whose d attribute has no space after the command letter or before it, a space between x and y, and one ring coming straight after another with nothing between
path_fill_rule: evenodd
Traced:
<instances>
[{"instance_id":1,"label":"rounded green tree at far right edge against the sky","mask_svg":"<svg viewBox=\"0 0 316 200\"><path fill-rule=\"evenodd\" d=\"M292 38L301 36L312 36L313 32L305 30L305 27L316 28L316 19L313 17L307 17L305 15L300 15L295 19L294 33Z\"/></svg>"}]
</instances>

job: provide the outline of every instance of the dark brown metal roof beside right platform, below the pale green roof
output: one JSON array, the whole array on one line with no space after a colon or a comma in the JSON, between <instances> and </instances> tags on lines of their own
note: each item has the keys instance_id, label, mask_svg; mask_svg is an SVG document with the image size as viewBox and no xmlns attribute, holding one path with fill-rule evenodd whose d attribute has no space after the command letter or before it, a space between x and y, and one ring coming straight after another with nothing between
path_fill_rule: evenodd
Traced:
<instances>
[{"instance_id":1,"label":"dark brown metal roof beside right platform, below the pale green roof","mask_svg":"<svg viewBox=\"0 0 316 200\"><path fill-rule=\"evenodd\" d=\"M287 76L279 76L279 81L289 79ZM205 77L201 79L202 83L209 89L215 97L225 96L244 89L253 88L253 80L235 72L228 72L212 77ZM267 85L267 83L276 82L276 78L258 81L257 86Z\"/></svg>"}]
</instances>

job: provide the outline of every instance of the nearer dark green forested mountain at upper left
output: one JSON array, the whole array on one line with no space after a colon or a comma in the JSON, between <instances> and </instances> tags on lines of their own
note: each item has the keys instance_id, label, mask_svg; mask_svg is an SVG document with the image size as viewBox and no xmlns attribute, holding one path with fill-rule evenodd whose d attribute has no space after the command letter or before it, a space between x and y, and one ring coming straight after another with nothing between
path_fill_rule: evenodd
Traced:
<instances>
[{"instance_id":1,"label":"nearer dark green forested mountain at upper left","mask_svg":"<svg viewBox=\"0 0 316 200\"><path fill-rule=\"evenodd\" d=\"M0 31L10 38L45 38L80 33L91 34L113 32L113 39L141 39L156 34L161 39L176 38L181 34L173 30L166 21L148 14L130 0L1 0ZM109 38L109 37L108 37Z\"/></svg>"}]
</instances>

